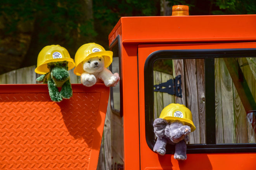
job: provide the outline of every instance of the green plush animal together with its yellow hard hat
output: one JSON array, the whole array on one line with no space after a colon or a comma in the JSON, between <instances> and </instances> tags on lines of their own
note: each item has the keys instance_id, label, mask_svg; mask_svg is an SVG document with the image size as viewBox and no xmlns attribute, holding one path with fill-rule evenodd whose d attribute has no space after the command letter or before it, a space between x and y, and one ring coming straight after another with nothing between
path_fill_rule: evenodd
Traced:
<instances>
[{"instance_id":1,"label":"green plush animal together with its yellow hard hat","mask_svg":"<svg viewBox=\"0 0 256 170\"><path fill-rule=\"evenodd\" d=\"M48 84L52 101L60 102L63 98L70 99L72 96L68 70L73 67L74 61L68 51L59 45L46 46L38 54L35 72L44 75L36 78L36 81ZM58 87L62 87L61 92Z\"/></svg>"}]
</instances>

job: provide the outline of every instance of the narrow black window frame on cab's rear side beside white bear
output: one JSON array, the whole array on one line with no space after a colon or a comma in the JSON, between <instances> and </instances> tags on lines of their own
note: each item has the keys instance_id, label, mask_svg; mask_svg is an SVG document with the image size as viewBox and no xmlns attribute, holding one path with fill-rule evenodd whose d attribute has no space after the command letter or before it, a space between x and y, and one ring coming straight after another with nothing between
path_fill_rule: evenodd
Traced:
<instances>
[{"instance_id":1,"label":"narrow black window frame on cab's rear side beside white bear","mask_svg":"<svg viewBox=\"0 0 256 170\"><path fill-rule=\"evenodd\" d=\"M120 110L117 110L114 107L113 87L110 87L110 106L114 114L117 114L120 117L123 117L123 83L122 83L123 78L122 78L122 67L121 67L122 58L121 58L121 36L120 35L116 36L114 41L111 42L109 46L109 50L112 51L112 48L114 48L114 46L118 46L119 76L120 76L120 80L119 80ZM109 66L109 70L112 72L112 64Z\"/></svg>"}]
</instances>

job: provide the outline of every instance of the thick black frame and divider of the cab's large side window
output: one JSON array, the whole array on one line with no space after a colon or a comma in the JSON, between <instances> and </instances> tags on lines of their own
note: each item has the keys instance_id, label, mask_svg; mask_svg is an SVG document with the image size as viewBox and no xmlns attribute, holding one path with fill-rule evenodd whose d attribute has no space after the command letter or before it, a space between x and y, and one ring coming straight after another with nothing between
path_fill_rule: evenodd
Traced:
<instances>
[{"instance_id":1,"label":"thick black frame and divider of the cab's large side window","mask_svg":"<svg viewBox=\"0 0 256 170\"><path fill-rule=\"evenodd\" d=\"M244 49L184 49L159 50L151 53L144 65L145 134L153 151L154 138L154 84L153 66L157 59L205 59L206 143L187 145L187 153L242 153L256 152L256 143L216 144L214 58L256 57L256 48ZM174 153L174 145L166 146L166 154Z\"/></svg>"}]
</instances>

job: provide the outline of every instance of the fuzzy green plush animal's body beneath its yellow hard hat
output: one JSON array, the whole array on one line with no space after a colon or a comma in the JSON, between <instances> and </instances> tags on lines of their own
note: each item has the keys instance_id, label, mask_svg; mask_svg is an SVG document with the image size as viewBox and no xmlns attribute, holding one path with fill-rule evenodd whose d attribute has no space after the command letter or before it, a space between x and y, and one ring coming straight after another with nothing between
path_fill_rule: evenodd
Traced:
<instances>
[{"instance_id":1,"label":"fuzzy green plush animal's body beneath its yellow hard hat","mask_svg":"<svg viewBox=\"0 0 256 170\"><path fill-rule=\"evenodd\" d=\"M36 81L48 84L49 95L52 101L60 102L62 98L69 99L73 92L67 71L67 62L52 62L48 63L47 67L50 72L36 78ZM61 92L59 92L58 87L62 87Z\"/></svg>"}]
</instances>

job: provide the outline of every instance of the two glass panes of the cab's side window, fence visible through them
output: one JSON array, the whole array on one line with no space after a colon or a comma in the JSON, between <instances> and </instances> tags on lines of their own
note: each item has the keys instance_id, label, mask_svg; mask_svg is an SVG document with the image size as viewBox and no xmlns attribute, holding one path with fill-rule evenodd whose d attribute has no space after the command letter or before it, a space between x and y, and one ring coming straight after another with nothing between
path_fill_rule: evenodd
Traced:
<instances>
[{"instance_id":1,"label":"two glass panes of the cab's side window, fence visible through them","mask_svg":"<svg viewBox=\"0 0 256 170\"><path fill-rule=\"evenodd\" d=\"M196 127L189 134L189 144L206 143L205 82L209 77L205 77L204 60L157 59L153 65L154 119L170 103L186 105ZM216 144L255 143L255 61L255 58L214 59L215 127L212 130ZM169 92L173 94L164 90L170 86L161 86L170 79L173 91L169 89ZM180 88L177 90L175 86Z\"/></svg>"}]
</instances>

